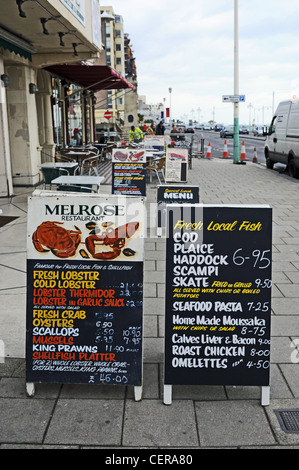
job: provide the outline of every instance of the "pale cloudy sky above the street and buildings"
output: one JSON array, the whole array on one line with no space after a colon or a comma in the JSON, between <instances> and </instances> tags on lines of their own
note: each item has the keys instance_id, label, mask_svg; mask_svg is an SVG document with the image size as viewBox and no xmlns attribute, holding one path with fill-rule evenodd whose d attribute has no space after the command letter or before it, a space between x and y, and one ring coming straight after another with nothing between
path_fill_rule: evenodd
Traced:
<instances>
[{"instance_id":1,"label":"pale cloudy sky above the street and buildings","mask_svg":"<svg viewBox=\"0 0 299 470\"><path fill-rule=\"evenodd\" d=\"M121 15L136 58L138 94L188 123L233 124L234 0L101 0ZM299 98L299 1L239 0L240 124L268 124ZM172 88L172 93L169 93Z\"/></svg>"}]
</instances>

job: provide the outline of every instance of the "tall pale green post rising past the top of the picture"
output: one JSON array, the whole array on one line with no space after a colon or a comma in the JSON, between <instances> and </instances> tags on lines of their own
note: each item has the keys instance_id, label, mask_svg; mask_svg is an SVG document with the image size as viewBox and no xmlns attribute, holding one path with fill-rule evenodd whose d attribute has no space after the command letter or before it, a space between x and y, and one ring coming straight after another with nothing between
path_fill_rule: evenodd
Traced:
<instances>
[{"instance_id":1,"label":"tall pale green post rising past the top of the picture","mask_svg":"<svg viewBox=\"0 0 299 470\"><path fill-rule=\"evenodd\" d=\"M235 0L234 95L239 96L238 0ZM234 163L239 162L239 100L234 103Z\"/></svg>"}]
</instances>

